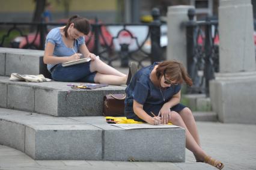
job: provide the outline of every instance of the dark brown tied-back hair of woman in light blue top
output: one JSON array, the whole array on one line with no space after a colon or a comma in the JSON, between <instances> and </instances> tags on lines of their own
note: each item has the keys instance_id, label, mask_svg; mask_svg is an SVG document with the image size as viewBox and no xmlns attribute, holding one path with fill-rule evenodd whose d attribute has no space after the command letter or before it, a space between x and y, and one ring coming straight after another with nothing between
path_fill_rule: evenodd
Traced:
<instances>
[{"instance_id":1,"label":"dark brown tied-back hair of woman in light blue top","mask_svg":"<svg viewBox=\"0 0 256 170\"><path fill-rule=\"evenodd\" d=\"M85 35L89 34L91 28L89 20L75 15L70 17L67 25L64 28L65 37L67 37L67 29L69 29L71 23L74 23L74 28L78 29L79 32L82 32Z\"/></svg>"}]
</instances>

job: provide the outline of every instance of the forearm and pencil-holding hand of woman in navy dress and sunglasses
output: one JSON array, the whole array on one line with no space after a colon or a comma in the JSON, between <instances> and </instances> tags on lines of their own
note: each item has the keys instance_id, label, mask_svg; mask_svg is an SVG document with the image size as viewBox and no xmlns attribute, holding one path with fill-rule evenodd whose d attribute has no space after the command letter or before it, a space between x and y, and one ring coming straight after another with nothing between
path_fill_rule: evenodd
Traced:
<instances>
[{"instance_id":1,"label":"forearm and pencil-holding hand of woman in navy dress and sunglasses","mask_svg":"<svg viewBox=\"0 0 256 170\"><path fill-rule=\"evenodd\" d=\"M141 118L142 120L146 121L149 124L156 125L156 121L157 121L157 124L160 123L159 117L150 117L150 115L148 115L143 110L143 105L136 102L136 100L133 100L133 111L139 118Z\"/></svg>"}]
</instances>

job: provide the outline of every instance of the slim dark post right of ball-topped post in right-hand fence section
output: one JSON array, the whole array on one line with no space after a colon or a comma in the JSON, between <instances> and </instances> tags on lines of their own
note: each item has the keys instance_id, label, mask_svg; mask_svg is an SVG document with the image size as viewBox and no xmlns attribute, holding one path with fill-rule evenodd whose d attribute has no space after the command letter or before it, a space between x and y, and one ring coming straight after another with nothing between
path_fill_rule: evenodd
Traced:
<instances>
[{"instance_id":1,"label":"slim dark post right of ball-topped post in right-hand fence section","mask_svg":"<svg viewBox=\"0 0 256 170\"><path fill-rule=\"evenodd\" d=\"M204 77L206 78L206 96L209 97L209 81L214 79L214 66L213 66L213 40L212 40L212 25L209 17L206 18L206 41L204 49L206 52Z\"/></svg>"}]
</instances>

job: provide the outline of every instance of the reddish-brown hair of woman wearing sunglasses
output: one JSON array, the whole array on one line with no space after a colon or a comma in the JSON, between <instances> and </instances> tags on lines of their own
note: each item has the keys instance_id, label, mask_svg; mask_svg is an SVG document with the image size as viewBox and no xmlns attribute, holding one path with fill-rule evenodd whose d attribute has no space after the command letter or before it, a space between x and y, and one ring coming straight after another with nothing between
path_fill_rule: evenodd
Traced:
<instances>
[{"instance_id":1,"label":"reddish-brown hair of woman wearing sunglasses","mask_svg":"<svg viewBox=\"0 0 256 170\"><path fill-rule=\"evenodd\" d=\"M157 79L160 79L163 74L170 77L171 80L177 81L177 83L183 83L184 80L187 85L193 85L192 79L187 74L186 68L184 68L181 62L174 60L160 62L160 64L156 68Z\"/></svg>"}]
</instances>

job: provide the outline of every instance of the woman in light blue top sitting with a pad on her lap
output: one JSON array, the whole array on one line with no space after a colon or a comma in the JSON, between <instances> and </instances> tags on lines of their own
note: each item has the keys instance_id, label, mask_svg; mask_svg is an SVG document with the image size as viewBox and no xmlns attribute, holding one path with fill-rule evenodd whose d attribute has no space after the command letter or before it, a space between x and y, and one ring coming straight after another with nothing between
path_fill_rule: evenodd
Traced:
<instances>
[{"instance_id":1,"label":"woman in light blue top sitting with a pad on her lap","mask_svg":"<svg viewBox=\"0 0 256 170\"><path fill-rule=\"evenodd\" d=\"M127 75L90 53L84 35L90 32L87 19L72 16L66 26L53 28L46 37L43 61L52 79L62 82L95 82L110 85L124 85ZM83 55L91 61L62 67L62 62L74 61Z\"/></svg>"}]
</instances>

